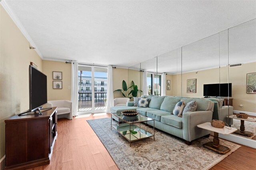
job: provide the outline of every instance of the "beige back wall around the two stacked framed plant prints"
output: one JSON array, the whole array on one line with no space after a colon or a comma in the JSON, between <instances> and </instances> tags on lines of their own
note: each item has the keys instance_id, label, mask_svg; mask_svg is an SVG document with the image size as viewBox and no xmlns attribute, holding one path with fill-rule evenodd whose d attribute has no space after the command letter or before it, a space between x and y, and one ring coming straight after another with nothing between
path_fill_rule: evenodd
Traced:
<instances>
[{"instance_id":1,"label":"beige back wall around the two stacked framed plant prints","mask_svg":"<svg viewBox=\"0 0 256 170\"><path fill-rule=\"evenodd\" d=\"M52 71L62 72L62 89L53 89ZM71 64L62 61L43 60L43 72L47 75L47 98L50 100L71 100ZM70 86L70 89L68 89Z\"/></svg>"}]
</instances>

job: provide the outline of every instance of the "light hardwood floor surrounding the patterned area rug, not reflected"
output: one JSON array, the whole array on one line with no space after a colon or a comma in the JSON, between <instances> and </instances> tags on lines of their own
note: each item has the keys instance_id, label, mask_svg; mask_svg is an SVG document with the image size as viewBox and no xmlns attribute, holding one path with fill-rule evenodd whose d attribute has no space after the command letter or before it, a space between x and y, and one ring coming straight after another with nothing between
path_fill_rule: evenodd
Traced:
<instances>
[{"instance_id":1,"label":"light hardwood floor surrounding the patterned area rug, not reflected","mask_svg":"<svg viewBox=\"0 0 256 170\"><path fill-rule=\"evenodd\" d=\"M58 119L58 136L50 164L33 170L118 170L98 136L86 120L110 117L110 114L92 114ZM212 170L256 169L256 149L242 146ZM31 169L32 170L32 169Z\"/></svg>"}]
</instances>

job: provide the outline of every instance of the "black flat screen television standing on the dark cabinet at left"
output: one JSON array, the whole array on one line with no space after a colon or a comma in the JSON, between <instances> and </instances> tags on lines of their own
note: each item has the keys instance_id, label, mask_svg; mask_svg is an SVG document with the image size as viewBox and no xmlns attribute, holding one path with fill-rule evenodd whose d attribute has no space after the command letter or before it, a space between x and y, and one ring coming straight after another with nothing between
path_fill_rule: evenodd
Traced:
<instances>
[{"instance_id":1,"label":"black flat screen television standing on the dark cabinet at left","mask_svg":"<svg viewBox=\"0 0 256 170\"><path fill-rule=\"evenodd\" d=\"M29 111L35 111L47 103L47 76L29 66Z\"/></svg>"}]
</instances>

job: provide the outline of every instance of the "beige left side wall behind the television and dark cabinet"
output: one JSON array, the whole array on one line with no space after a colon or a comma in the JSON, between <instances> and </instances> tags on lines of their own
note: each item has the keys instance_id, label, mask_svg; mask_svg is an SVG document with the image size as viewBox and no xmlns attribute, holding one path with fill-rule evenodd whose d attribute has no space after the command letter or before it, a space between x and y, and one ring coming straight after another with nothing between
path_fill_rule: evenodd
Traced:
<instances>
[{"instance_id":1,"label":"beige left side wall behind the television and dark cabinet","mask_svg":"<svg viewBox=\"0 0 256 170\"><path fill-rule=\"evenodd\" d=\"M29 109L30 61L42 71L42 59L0 6L0 158L5 155L4 120Z\"/></svg>"}]
</instances>

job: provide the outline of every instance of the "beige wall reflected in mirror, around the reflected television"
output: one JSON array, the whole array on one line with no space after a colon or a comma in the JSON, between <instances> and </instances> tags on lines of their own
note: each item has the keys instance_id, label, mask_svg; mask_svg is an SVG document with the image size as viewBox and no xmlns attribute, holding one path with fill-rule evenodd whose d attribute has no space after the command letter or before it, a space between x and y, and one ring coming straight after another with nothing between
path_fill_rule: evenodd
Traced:
<instances>
[{"instance_id":1,"label":"beige wall reflected in mirror, around the reflected television","mask_svg":"<svg viewBox=\"0 0 256 170\"><path fill-rule=\"evenodd\" d=\"M229 77L228 77L229 71ZM246 74L256 73L256 62L246 63L241 67L221 67L220 70L208 69L182 74L182 96L203 97L204 84L232 83L232 97L234 110L256 113L256 94L246 93ZM174 75L176 77L176 75ZM196 93L186 93L187 79L196 79ZM228 80L229 79L229 80ZM175 87L175 85L174 85ZM175 89L174 89L175 91ZM243 105L240 108L239 105Z\"/></svg>"}]
</instances>

